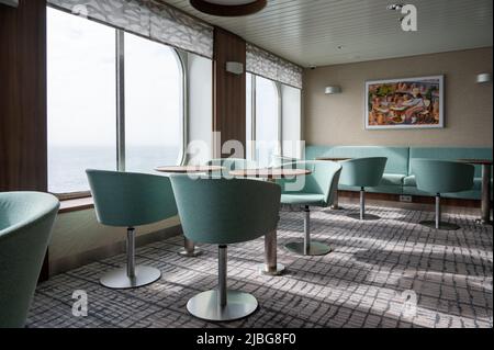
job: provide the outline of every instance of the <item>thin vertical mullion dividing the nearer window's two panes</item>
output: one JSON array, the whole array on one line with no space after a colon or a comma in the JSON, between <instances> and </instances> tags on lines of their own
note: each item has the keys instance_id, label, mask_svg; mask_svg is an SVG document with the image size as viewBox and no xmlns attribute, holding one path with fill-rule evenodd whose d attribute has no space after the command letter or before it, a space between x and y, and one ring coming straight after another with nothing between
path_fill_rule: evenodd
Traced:
<instances>
[{"instance_id":1,"label":"thin vertical mullion dividing the nearer window's two panes","mask_svg":"<svg viewBox=\"0 0 494 350\"><path fill-rule=\"evenodd\" d=\"M116 30L116 167L125 171L125 32Z\"/></svg>"}]
</instances>

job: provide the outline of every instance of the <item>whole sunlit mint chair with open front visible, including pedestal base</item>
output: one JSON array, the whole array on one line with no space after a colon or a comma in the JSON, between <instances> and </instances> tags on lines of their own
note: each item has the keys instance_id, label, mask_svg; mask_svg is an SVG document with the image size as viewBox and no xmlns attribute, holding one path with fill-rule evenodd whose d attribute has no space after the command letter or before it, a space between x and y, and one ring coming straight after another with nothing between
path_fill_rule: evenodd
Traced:
<instances>
[{"instance_id":1,"label":"whole sunlit mint chair with open front visible, including pedestal base","mask_svg":"<svg viewBox=\"0 0 494 350\"><path fill-rule=\"evenodd\" d=\"M295 180L279 180L282 188L281 203L300 205L305 213L304 241L292 241L285 248L304 256L323 256L332 248L323 242L311 240L311 206L326 207L333 203L338 187L341 166L332 161L300 161L284 165L287 168L306 169L312 173Z\"/></svg>"}]
</instances>

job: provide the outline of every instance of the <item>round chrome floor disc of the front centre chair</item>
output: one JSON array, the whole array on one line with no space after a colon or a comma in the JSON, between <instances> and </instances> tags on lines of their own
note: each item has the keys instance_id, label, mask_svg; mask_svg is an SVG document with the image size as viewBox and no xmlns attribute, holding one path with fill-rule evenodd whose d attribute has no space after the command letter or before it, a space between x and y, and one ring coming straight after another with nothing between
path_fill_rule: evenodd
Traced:
<instances>
[{"instance_id":1,"label":"round chrome floor disc of the front centre chair","mask_svg":"<svg viewBox=\"0 0 494 350\"><path fill-rule=\"evenodd\" d=\"M248 293L226 291L224 306L220 305L218 298L216 290L200 293L187 303L187 309L201 319L228 321L247 317L258 307L257 300Z\"/></svg>"}]
</instances>

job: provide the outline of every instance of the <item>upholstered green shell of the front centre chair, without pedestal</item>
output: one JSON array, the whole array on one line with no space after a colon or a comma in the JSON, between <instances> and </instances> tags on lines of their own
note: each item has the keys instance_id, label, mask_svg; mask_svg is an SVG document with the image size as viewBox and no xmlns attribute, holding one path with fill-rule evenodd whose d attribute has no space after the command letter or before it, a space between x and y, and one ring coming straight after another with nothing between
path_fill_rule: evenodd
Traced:
<instances>
[{"instance_id":1,"label":"upholstered green shell of the front centre chair, without pedestal","mask_svg":"<svg viewBox=\"0 0 494 350\"><path fill-rule=\"evenodd\" d=\"M170 177L186 237L228 245L256 239L276 229L281 189L247 179Z\"/></svg>"}]
</instances>

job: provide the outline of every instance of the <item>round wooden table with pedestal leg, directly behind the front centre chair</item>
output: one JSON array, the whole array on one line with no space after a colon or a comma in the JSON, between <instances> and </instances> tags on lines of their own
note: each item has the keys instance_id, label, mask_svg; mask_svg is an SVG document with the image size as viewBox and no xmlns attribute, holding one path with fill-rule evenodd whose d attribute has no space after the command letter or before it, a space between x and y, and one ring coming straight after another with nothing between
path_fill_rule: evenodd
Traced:
<instances>
[{"instance_id":1,"label":"round wooden table with pedestal leg, directly behind the front centre chair","mask_svg":"<svg viewBox=\"0 0 494 350\"><path fill-rule=\"evenodd\" d=\"M234 170L229 174L237 178L267 179L270 182L276 182L277 179L307 176L311 174L311 171L305 169L246 169ZM277 238L276 229L265 236L265 263L259 267L261 274L280 275L284 271L284 266L278 263Z\"/></svg>"}]
</instances>

